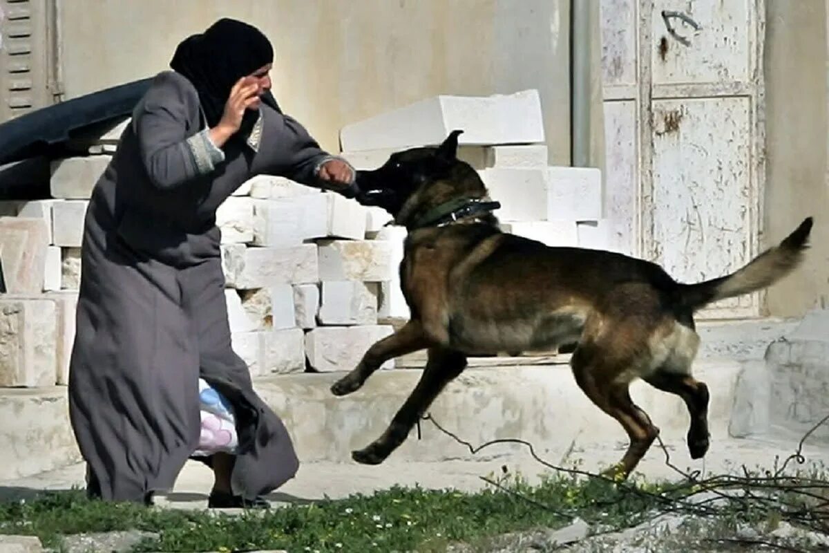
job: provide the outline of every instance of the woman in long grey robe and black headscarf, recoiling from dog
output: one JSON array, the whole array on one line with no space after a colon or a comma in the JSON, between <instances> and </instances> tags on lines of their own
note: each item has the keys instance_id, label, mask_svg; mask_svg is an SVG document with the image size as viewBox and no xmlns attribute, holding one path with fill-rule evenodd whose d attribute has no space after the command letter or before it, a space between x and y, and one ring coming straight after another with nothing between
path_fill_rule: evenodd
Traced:
<instances>
[{"instance_id":1,"label":"woman in long grey robe and black headscarf, recoiling from dog","mask_svg":"<svg viewBox=\"0 0 829 553\"><path fill-rule=\"evenodd\" d=\"M133 111L85 216L70 418L90 497L152 502L200 445L199 379L235 416L210 507L266 507L298 469L230 347L216 208L257 174L351 197L353 168L272 95L269 41L222 19L177 48Z\"/></svg>"}]
</instances>

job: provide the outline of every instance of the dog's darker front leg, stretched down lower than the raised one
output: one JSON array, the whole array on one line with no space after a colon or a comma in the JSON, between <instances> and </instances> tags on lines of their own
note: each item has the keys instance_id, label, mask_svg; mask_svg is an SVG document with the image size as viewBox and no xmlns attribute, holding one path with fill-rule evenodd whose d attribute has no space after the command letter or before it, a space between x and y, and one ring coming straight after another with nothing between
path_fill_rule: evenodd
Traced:
<instances>
[{"instance_id":1,"label":"dog's darker front leg, stretched down lower than the raised one","mask_svg":"<svg viewBox=\"0 0 829 553\"><path fill-rule=\"evenodd\" d=\"M423 375L420 376L420 381L391 420L389 428L366 448L352 452L351 457L357 463L382 463L403 444L414 424L417 424L419 418L429 409L429 405L432 405L434 398L449 381L461 374L466 366L467 358L461 353L442 347L429 349L429 361Z\"/></svg>"}]
</instances>

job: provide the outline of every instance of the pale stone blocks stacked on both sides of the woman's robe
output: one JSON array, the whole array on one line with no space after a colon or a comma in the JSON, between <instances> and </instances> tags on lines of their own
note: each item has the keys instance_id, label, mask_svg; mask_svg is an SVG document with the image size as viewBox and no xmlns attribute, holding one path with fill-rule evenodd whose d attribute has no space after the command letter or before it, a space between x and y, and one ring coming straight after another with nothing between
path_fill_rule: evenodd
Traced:
<instances>
[{"instance_id":1,"label":"pale stone blocks stacked on both sides of the woman's robe","mask_svg":"<svg viewBox=\"0 0 829 553\"><path fill-rule=\"evenodd\" d=\"M85 213L125 124L54 163L51 198L0 202L0 386L68 382ZM350 370L393 332L377 316L392 248L366 240L369 219L356 201L284 177L255 177L221 205L232 346L253 376Z\"/></svg>"}]
</instances>

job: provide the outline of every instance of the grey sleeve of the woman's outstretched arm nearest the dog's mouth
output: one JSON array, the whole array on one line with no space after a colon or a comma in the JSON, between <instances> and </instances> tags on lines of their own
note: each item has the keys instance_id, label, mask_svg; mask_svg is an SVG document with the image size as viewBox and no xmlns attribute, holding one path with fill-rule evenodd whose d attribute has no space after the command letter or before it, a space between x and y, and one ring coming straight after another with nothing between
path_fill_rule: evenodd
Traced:
<instances>
[{"instance_id":1,"label":"grey sleeve of the woman's outstretched arm nearest the dog's mouth","mask_svg":"<svg viewBox=\"0 0 829 553\"><path fill-rule=\"evenodd\" d=\"M275 145L282 155L278 163L270 168L269 172L288 177L293 182L299 182L309 187L323 188L327 183L318 179L318 172L323 163L332 159L340 159L351 167L345 159L327 153L296 119L289 115L279 114L276 122ZM354 174L354 167L351 167Z\"/></svg>"}]
</instances>

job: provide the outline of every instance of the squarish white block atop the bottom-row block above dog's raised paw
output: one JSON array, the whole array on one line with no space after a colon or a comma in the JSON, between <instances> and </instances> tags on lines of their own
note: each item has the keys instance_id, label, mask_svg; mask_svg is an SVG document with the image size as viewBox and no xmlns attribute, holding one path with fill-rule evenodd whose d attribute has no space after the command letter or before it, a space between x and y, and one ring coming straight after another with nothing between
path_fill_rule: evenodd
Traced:
<instances>
[{"instance_id":1,"label":"squarish white block atop the bottom-row block above dog's raised paw","mask_svg":"<svg viewBox=\"0 0 829 553\"><path fill-rule=\"evenodd\" d=\"M377 324L377 283L356 280L322 282L318 323L322 325Z\"/></svg>"}]
</instances>

